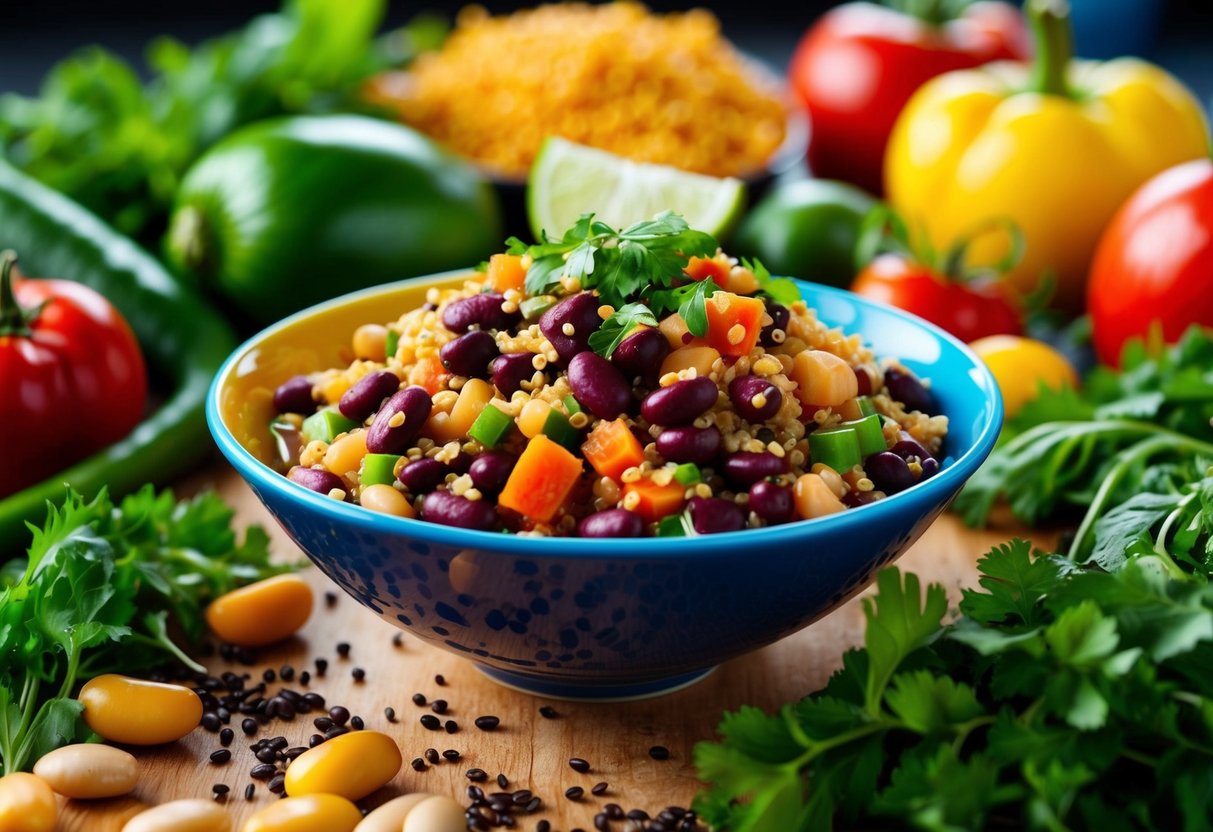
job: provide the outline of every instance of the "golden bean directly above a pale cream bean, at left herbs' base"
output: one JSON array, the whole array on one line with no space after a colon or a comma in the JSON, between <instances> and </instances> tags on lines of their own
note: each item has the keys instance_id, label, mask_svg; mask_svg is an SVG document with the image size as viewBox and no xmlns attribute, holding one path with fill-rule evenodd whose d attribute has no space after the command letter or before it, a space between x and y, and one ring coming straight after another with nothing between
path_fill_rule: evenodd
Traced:
<instances>
[{"instance_id":1,"label":"golden bean directly above a pale cream bean, at left herbs' base","mask_svg":"<svg viewBox=\"0 0 1213 832\"><path fill-rule=\"evenodd\" d=\"M80 689L84 720L103 739L132 746L172 742L203 718L203 700L189 688L107 673Z\"/></svg>"}]
</instances>

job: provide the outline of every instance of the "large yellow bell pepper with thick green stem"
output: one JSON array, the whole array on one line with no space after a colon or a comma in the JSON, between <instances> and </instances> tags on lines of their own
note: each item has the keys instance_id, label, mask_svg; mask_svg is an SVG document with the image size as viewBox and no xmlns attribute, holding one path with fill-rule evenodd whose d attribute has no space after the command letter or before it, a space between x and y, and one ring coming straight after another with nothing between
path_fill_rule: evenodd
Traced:
<instances>
[{"instance_id":1,"label":"large yellow bell pepper with thick green stem","mask_svg":"<svg viewBox=\"0 0 1213 832\"><path fill-rule=\"evenodd\" d=\"M893 206L936 247L976 229L975 262L997 260L1006 233L1026 251L1010 285L1057 280L1054 306L1081 308L1100 233L1139 184L1209 152L1196 98L1162 69L1133 58L1071 61L1066 0L1029 0L1031 67L989 64L940 75L898 118L884 161Z\"/></svg>"}]
</instances>

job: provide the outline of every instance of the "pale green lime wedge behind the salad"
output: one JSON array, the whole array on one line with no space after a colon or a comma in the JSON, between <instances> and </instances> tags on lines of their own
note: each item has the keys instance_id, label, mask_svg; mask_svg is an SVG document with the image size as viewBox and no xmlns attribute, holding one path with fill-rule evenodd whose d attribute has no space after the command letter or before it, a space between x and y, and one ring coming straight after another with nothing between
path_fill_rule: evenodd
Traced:
<instances>
[{"instance_id":1,"label":"pale green lime wedge behind the salad","mask_svg":"<svg viewBox=\"0 0 1213 832\"><path fill-rule=\"evenodd\" d=\"M571 227L582 213L623 228L672 210L691 228L721 237L741 217L746 187L666 165L649 165L551 136L526 181L526 215L535 239Z\"/></svg>"}]
</instances>

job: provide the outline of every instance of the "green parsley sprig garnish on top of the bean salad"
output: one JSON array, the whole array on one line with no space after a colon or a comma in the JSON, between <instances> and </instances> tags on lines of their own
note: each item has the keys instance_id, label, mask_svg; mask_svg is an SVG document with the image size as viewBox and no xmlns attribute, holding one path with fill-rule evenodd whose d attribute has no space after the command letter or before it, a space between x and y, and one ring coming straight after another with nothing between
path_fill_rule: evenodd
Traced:
<instances>
[{"instance_id":1,"label":"green parsley sprig garnish on top of the bean salad","mask_svg":"<svg viewBox=\"0 0 1213 832\"><path fill-rule=\"evenodd\" d=\"M511 255L531 257L528 295L543 295L569 277L615 309L590 336L590 348L605 358L637 325L656 326L659 317L671 312L682 317L691 335L707 332L706 300L717 286L712 280L687 281L684 269L691 257L713 256L719 244L672 211L622 230L585 213L559 239L545 233L542 243L528 245L512 237L506 245ZM799 300L791 280L771 278L762 263L744 264L754 273L761 294L781 303Z\"/></svg>"}]
</instances>

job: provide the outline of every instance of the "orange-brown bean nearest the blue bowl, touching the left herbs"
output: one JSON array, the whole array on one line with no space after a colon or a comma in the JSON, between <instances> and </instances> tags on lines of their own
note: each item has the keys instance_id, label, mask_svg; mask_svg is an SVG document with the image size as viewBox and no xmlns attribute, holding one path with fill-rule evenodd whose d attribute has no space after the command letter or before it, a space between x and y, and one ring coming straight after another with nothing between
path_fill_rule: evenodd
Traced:
<instances>
[{"instance_id":1,"label":"orange-brown bean nearest the blue bowl, touching the left herbs","mask_svg":"<svg viewBox=\"0 0 1213 832\"><path fill-rule=\"evenodd\" d=\"M280 642L312 615L312 587L298 575L277 575L216 598L206 608L211 631L230 644Z\"/></svg>"}]
</instances>

